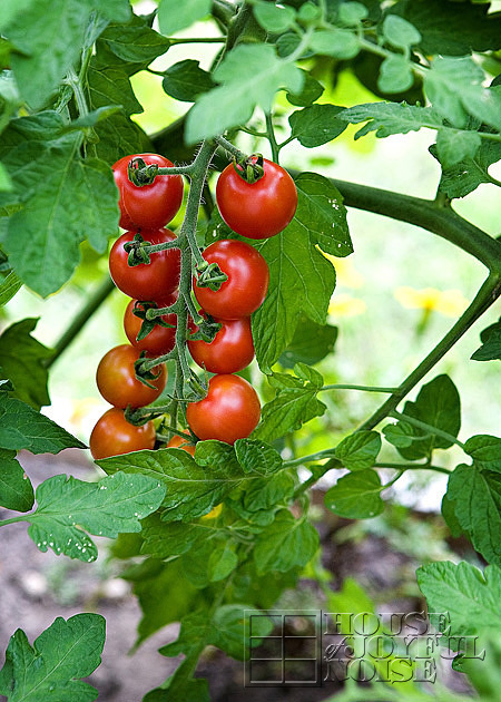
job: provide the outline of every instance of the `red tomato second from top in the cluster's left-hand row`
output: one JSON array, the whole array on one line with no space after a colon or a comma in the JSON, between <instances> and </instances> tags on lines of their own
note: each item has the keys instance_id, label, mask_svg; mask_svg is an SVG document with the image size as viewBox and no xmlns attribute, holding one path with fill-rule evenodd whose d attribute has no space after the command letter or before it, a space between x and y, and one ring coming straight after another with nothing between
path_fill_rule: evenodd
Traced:
<instances>
[{"instance_id":1,"label":"red tomato second from top in the cluster's left-hand row","mask_svg":"<svg viewBox=\"0 0 501 702\"><path fill-rule=\"evenodd\" d=\"M168 248L150 254L149 263L130 266L124 244L134 240L135 232L126 232L117 238L109 253L109 272L115 285L136 300L164 300L179 284L180 251ZM141 231L150 244L163 244L176 238L170 230Z\"/></svg>"}]
</instances>

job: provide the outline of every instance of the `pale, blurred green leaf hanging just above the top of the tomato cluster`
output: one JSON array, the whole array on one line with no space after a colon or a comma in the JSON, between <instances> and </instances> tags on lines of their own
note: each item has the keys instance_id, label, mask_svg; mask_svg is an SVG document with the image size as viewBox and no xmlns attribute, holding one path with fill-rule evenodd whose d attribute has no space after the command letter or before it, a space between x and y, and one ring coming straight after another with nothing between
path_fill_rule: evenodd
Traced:
<instances>
[{"instance_id":1,"label":"pale, blurred green leaf hanging just above the top of the tomato cluster","mask_svg":"<svg viewBox=\"0 0 501 702\"><path fill-rule=\"evenodd\" d=\"M245 124L256 106L268 113L281 88L299 92L303 87L303 72L286 59L279 59L273 46L264 43L237 46L213 77L222 85L205 92L189 110L187 144Z\"/></svg>"}]
</instances>

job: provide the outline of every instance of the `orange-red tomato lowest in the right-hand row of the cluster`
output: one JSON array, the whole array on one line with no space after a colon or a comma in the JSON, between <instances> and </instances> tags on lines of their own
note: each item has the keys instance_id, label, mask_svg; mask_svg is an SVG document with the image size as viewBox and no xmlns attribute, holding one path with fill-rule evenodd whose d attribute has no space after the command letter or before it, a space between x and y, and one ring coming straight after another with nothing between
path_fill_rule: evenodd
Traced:
<instances>
[{"instance_id":1,"label":"orange-red tomato lowest in the right-hand row of the cluster","mask_svg":"<svg viewBox=\"0 0 501 702\"><path fill-rule=\"evenodd\" d=\"M217 439L235 443L254 431L259 418L257 393L239 376L214 376L209 380L207 397L190 402L186 408L188 425L202 440Z\"/></svg>"}]
</instances>

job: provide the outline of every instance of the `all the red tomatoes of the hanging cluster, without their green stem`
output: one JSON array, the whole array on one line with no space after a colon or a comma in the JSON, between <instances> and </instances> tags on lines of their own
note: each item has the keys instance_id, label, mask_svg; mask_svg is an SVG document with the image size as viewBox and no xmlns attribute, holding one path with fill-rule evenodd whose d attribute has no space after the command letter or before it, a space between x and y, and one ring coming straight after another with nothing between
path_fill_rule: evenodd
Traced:
<instances>
[{"instance_id":1,"label":"all the red tomatoes of the hanging cluster, without their green stem","mask_svg":"<svg viewBox=\"0 0 501 702\"><path fill-rule=\"evenodd\" d=\"M167 158L155 154L139 154L138 157L148 165L173 166ZM157 358L169 353L176 342L177 315L174 313L156 318L157 323L146 335L140 331L148 306L167 308L177 299L179 248L153 252L149 263L130 266L124 244L138 235L151 245L175 241L175 234L165 225L181 205L183 179L179 175L161 175L149 185L136 186L128 178L132 158L126 156L114 165L119 189L119 224L127 231L115 242L109 256L115 284L131 298L124 318L130 343L108 351L97 369L98 389L112 406L98 420L90 436L90 450L97 459L154 448L153 421L132 425L127 421L125 409L145 407L160 396L167 379L165 365L155 367L145 384L137 379L135 364L141 354ZM281 232L292 220L297 193L288 174L265 160L264 175L255 184L245 182L233 166L228 166L219 176L216 199L223 218L237 234L265 238ZM269 271L253 246L237 240L215 242L202 255L207 263L216 263L226 280L218 290L198 286L194 281L200 314L210 315L220 329L210 343L188 338L193 360L215 376L209 380L206 397L188 403L186 419L198 439L234 443L247 437L261 417L256 391L234 373L246 368L254 358L250 314L266 295ZM191 333L197 331L193 323L189 329ZM167 446L181 446L194 452L194 447L179 437L173 437Z\"/></svg>"}]
</instances>

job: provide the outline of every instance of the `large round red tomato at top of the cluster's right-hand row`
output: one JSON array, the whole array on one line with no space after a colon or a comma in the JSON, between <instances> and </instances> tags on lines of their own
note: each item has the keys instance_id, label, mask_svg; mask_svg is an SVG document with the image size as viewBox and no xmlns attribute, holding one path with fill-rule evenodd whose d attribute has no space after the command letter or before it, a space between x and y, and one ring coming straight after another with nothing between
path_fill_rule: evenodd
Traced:
<instances>
[{"instance_id":1,"label":"large round red tomato at top of the cluster's right-hand row","mask_svg":"<svg viewBox=\"0 0 501 702\"><path fill-rule=\"evenodd\" d=\"M220 216L237 234L268 238L285 230L297 207L294 181L278 164L263 159L264 175L247 183L233 165L226 166L216 186Z\"/></svg>"}]
</instances>

